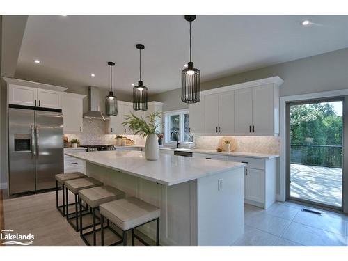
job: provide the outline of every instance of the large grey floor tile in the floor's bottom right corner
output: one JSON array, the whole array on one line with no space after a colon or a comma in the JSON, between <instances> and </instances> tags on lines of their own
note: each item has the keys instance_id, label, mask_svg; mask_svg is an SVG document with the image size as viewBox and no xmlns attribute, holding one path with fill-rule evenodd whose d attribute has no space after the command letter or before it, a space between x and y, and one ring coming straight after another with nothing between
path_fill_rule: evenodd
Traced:
<instances>
[{"instance_id":1,"label":"large grey floor tile in the floor's bottom right corner","mask_svg":"<svg viewBox=\"0 0 348 261\"><path fill-rule=\"evenodd\" d=\"M285 230L283 239L304 246L345 246L345 237L332 232L292 222Z\"/></svg>"}]
</instances>

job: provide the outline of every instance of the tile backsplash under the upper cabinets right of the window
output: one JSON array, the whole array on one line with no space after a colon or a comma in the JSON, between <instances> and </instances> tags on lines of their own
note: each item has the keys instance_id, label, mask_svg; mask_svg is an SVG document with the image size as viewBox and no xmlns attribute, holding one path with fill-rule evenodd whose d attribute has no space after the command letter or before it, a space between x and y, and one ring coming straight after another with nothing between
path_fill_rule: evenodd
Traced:
<instances>
[{"instance_id":1,"label":"tile backsplash under the upper cabinets right of the window","mask_svg":"<svg viewBox=\"0 0 348 261\"><path fill-rule=\"evenodd\" d=\"M195 148L215 150L225 136L193 136ZM260 152L279 154L280 141L278 137L265 136L228 136L237 141L236 151L239 152Z\"/></svg>"}]
</instances>

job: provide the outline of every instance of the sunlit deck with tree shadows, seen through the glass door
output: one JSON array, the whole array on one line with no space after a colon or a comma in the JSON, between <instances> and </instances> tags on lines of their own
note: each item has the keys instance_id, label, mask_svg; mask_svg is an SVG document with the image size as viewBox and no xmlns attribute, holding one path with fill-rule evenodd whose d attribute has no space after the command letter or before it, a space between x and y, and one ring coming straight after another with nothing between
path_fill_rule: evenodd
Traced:
<instances>
[{"instance_id":1,"label":"sunlit deck with tree shadows, seen through the glass door","mask_svg":"<svg viewBox=\"0 0 348 261\"><path fill-rule=\"evenodd\" d=\"M342 168L291 164L290 196L341 207Z\"/></svg>"}]
</instances>

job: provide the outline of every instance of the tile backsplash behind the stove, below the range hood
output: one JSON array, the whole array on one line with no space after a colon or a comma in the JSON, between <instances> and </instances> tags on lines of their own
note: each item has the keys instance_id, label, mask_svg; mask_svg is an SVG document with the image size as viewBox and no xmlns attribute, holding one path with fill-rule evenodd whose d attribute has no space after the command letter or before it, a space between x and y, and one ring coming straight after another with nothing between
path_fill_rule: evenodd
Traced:
<instances>
[{"instance_id":1,"label":"tile backsplash behind the stove, below the range hood","mask_svg":"<svg viewBox=\"0 0 348 261\"><path fill-rule=\"evenodd\" d=\"M76 134L64 134L68 140L79 139L81 145L116 145L115 134L105 134L104 120L84 118L84 130ZM145 139L139 135L122 135L136 141L136 145L145 145Z\"/></svg>"}]
</instances>

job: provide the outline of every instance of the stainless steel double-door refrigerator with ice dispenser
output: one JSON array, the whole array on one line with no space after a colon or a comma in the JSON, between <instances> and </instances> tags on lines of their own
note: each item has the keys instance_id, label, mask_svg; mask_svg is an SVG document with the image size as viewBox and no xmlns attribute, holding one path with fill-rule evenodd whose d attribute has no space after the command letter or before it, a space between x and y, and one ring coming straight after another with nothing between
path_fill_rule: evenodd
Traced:
<instances>
[{"instance_id":1,"label":"stainless steel double-door refrigerator with ice dispenser","mask_svg":"<svg viewBox=\"0 0 348 261\"><path fill-rule=\"evenodd\" d=\"M63 173L63 113L10 108L10 194L56 186Z\"/></svg>"}]
</instances>

